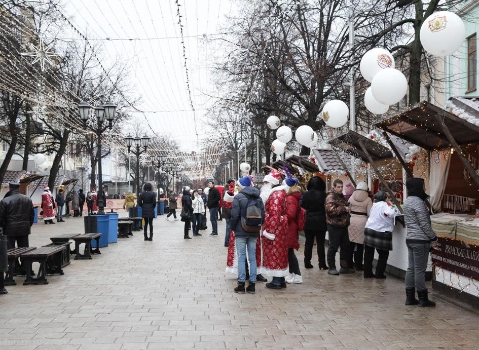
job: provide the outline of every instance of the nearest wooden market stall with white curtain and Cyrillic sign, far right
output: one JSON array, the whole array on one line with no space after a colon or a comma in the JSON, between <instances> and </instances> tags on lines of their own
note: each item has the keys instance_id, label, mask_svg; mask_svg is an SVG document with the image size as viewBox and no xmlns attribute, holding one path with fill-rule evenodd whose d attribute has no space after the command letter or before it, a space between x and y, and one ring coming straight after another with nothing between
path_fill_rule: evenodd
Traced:
<instances>
[{"instance_id":1,"label":"nearest wooden market stall with white curtain and Cyrillic sign, far right","mask_svg":"<svg viewBox=\"0 0 479 350\"><path fill-rule=\"evenodd\" d=\"M479 307L479 126L425 101L376 126L425 150L422 175L440 242L431 253L433 288ZM411 175L422 177L416 169Z\"/></svg>"}]
</instances>

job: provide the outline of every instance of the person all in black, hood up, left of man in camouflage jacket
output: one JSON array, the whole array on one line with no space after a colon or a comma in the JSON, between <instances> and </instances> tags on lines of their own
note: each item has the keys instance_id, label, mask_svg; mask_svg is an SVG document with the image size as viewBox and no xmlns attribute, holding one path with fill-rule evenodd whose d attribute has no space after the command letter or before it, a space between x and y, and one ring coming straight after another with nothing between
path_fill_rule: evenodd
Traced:
<instances>
[{"instance_id":1,"label":"person all in black, hood up, left of man in camouflage jacket","mask_svg":"<svg viewBox=\"0 0 479 350\"><path fill-rule=\"evenodd\" d=\"M318 249L319 269L327 270L326 255L324 253L324 238L326 236L326 212L324 200L326 199L326 184L320 177L313 177L308 182L308 191L304 193L301 207L306 210L304 233L306 243L304 248L304 266L312 268L313 244L316 238Z\"/></svg>"}]
</instances>

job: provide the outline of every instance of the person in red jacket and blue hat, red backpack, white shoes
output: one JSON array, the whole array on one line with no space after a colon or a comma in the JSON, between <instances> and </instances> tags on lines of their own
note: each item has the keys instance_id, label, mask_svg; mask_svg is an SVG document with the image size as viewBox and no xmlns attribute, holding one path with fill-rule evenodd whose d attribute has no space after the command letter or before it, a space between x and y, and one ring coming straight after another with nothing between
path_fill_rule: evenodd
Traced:
<instances>
[{"instance_id":1,"label":"person in red jacket and blue hat, red backpack, white shoes","mask_svg":"<svg viewBox=\"0 0 479 350\"><path fill-rule=\"evenodd\" d=\"M288 208L286 210L286 217L288 219L287 230L287 244L288 244L288 265L289 275L285 277L286 283L303 283L303 277L301 276L300 264L298 258L294 255L294 249L300 248L298 241L299 231L299 217L303 213L300 206L301 196L303 191L298 186L298 179L289 177L284 180L284 183L289 186L289 192L287 197Z\"/></svg>"}]
</instances>

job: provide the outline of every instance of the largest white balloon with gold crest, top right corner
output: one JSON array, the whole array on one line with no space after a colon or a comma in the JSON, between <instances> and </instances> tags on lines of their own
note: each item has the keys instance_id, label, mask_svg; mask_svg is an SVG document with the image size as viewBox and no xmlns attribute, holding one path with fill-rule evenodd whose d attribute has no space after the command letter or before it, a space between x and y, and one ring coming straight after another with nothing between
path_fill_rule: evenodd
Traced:
<instances>
[{"instance_id":1,"label":"largest white balloon with gold crest, top right corner","mask_svg":"<svg viewBox=\"0 0 479 350\"><path fill-rule=\"evenodd\" d=\"M435 12L427 17L419 32L422 46L435 56L453 54L462 46L465 35L464 22L449 11Z\"/></svg>"}]
</instances>

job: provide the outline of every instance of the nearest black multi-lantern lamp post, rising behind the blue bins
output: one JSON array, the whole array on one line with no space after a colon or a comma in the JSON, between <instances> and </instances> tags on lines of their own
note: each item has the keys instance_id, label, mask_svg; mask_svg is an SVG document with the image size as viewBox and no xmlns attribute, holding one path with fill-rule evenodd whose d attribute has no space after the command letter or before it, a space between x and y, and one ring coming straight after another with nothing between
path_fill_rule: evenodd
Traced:
<instances>
[{"instance_id":1,"label":"nearest black multi-lantern lamp post, rising behind the blue bins","mask_svg":"<svg viewBox=\"0 0 479 350\"><path fill-rule=\"evenodd\" d=\"M92 106L88 102L81 102L78 105L78 111L80 112L80 119L83 122L83 127L86 129L87 128L87 121L90 116L90 112L92 110ZM104 214L103 208L105 207L105 193L103 191L103 179L102 179L102 173L101 173L101 134L108 129L112 129L113 126L113 120L115 118L115 112L117 111L117 106L114 105L112 102L106 102L102 106L96 106L93 108L95 111L95 116L96 116L96 128L90 128L95 134L96 134L96 143L97 143L97 153L96 157L98 159L98 214L102 215ZM103 122L106 120L108 121L108 124L103 126Z\"/></svg>"}]
</instances>

